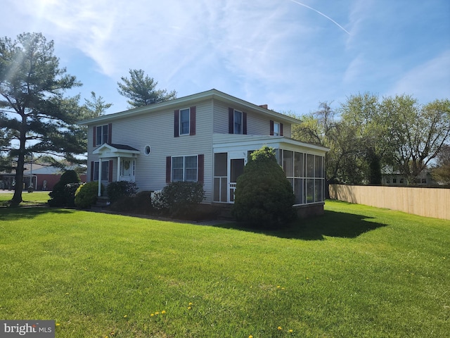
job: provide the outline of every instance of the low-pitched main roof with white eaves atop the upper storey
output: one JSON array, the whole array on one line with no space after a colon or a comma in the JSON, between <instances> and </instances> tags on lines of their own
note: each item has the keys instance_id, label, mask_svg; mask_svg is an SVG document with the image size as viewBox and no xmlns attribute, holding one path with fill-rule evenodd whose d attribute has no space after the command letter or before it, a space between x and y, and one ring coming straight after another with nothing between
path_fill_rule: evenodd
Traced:
<instances>
[{"instance_id":1,"label":"low-pitched main roof with white eaves atop the upper storey","mask_svg":"<svg viewBox=\"0 0 450 338\"><path fill-rule=\"evenodd\" d=\"M291 118L288 115L284 115L281 113L277 113L276 111L271 111L263 106L257 106L256 104L251 104L248 101L244 101L242 99L238 99L237 97L231 96L229 94L225 94L224 92L219 92L217 89L210 89L207 92L200 92L198 94L193 94L189 96L180 97L179 99L173 99L169 101L164 101L159 104L150 104L148 106L142 106L139 108L130 109L129 111L121 111L119 113L113 113L108 115L98 116L97 118L91 118L89 120L79 121L79 125L93 125L98 123L109 123L113 120L119 118L126 118L129 115L142 115L152 113L153 111L160 111L161 109L172 108L176 106L192 105L196 102L204 101L205 99L217 99L218 101L225 102L226 104L230 104L231 106L242 107L242 108L250 108L252 111L257 111L258 113L262 113L263 115L269 116L276 120L285 123L293 123L298 124L300 120L296 118Z\"/></svg>"}]
</instances>

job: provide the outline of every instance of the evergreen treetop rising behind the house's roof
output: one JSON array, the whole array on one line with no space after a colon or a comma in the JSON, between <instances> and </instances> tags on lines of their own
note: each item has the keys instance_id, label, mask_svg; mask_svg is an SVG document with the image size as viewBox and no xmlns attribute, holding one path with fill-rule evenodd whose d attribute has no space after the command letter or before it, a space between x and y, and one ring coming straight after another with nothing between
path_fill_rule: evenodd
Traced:
<instances>
[{"instance_id":1,"label":"evergreen treetop rising behind the house's roof","mask_svg":"<svg viewBox=\"0 0 450 338\"><path fill-rule=\"evenodd\" d=\"M157 81L153 77L145 75L141 69L130 69L128 77L120 77L119 94L127 97L127 103L130 108L148 106L149 104L158 104L163 101L176 99L176 92L167 92L167 89L156 89Z\"/></svg>"}]
</instances>

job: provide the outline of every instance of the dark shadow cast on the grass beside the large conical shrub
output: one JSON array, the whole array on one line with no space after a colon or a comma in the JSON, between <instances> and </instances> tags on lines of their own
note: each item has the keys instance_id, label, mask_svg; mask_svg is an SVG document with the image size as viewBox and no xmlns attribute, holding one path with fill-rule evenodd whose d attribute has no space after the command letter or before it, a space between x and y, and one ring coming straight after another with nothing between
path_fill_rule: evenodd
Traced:
<instances>
[{"instance_id":1,"label":"dark shadow cast on the grass beside the large conical shrub","mask_svg":"<svg viewBox=\"0 0 450 338\"><path fill-rule=\"evenodd\" d=\"M283 230L257 230L253 228L241 227L238 224L226 224L223 227L236 230L258 232L269 236L304 239L323 240L325 236L355 238L364 232L385 227L385 224L375 223L366 215L355 215L352 213L338 213L335 211L325 211L324 215L305 220L297 220L295 223ZM221 227L221 225L219 225Z\"/></svg>"}]
</instances>

